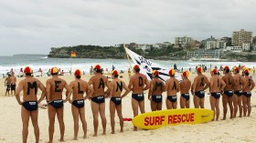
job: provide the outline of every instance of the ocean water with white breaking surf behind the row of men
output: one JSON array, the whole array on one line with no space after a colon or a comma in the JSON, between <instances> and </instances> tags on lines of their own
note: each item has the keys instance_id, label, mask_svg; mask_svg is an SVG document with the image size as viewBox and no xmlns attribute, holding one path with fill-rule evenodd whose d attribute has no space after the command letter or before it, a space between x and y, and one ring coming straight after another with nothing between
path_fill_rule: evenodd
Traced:
<instances>
[{"instance_id":1,"label":"ocean water with white breaking surf behind the row of men","mask_svg":"<svg viewBox=\"0 0 256 143\"><path fill-rule=\"evenodd\" d=\"M214 66L256 66L256 62L198 62L198 61L173 61L173 60L150 60L160 66L164 66L167 69L173 68L176 64L177 68L188 70L189 67L195 70L198 65ZM57 66L60 70L68 73L69 70L74 71L79 68L86 74L90 72L90 67L100 64L105 70L112 70L112 66L115 66L118 70L127 71L130 64L127 59L90 59L90 58L48 58L47 56L0 56L0 74L6 74L13 68L16 75L20 74L20 68L30 66L34 73L37 74L39 68L43 70L44 75L48 72L48 69ZM133 66L133 61L131 60ZM39 74L39 73L38 73Z\"/></svg>"}]
</instances>

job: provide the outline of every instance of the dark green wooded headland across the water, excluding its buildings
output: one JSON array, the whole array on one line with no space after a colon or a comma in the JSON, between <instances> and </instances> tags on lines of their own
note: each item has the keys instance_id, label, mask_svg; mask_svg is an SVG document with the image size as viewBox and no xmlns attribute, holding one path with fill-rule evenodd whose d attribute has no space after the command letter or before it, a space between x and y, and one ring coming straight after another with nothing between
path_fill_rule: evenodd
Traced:
<instances>
[{"instance_id":1,"label":"dark green wooded headland across the water, excluding its buildings","mask_svg":"<svg viewBox=\"0 0 256 143\"><path fill-rule=\"evenodd\" d=\"M126 45L129 49L133 50L136 54L144 56L148 59L161 59L161 60L187 60L187 50L184 48L177 48L175 45L155 47L153 45L147 46L145 50L133 44ZM191 50L191 49L189 49ZM52 47L48 57L52 58L69 58L71 51L76 52L76 57L72 58L116 58L124 59L126 54L121 46L63 46ZM225 53L223 58L237 61L256 61L256 53L242 52L242 53Z\"/></svg>"}]
</instances>

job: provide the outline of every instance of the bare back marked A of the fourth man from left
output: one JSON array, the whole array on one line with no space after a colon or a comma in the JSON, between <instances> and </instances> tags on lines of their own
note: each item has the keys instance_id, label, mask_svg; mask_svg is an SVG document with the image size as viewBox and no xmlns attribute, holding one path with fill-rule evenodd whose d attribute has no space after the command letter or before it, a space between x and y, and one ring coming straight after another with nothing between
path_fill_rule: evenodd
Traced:
<instances>
[{"instance_id":1,"label":"bare back marked A of the fourth man from left","mask_svg":"<svg viewBox=\"0 0 256 143\"><path fill-rule=\"evenodd\" d=\"M92 85L94 92L91 97L104 96L105 87L109 86L108 78L102 76L101 74L97 74L90 78L88 84Z\"/></svg>"}]
</instances>

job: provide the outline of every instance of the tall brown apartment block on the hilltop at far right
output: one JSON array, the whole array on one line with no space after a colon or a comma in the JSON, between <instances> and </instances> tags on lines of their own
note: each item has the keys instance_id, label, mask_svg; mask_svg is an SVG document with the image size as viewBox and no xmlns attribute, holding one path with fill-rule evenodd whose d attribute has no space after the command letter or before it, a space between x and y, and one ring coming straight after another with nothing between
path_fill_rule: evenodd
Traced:
<instances>
[{"instance_id":1,"label":"tall brown apartment block on the hilltop at far right","mask_svg":"<svg viewBox=\"0 0 256 143\"><path fill-rule=\"evenodd\" d=\"M244 29L233 32L232 45L242 46L243 43L252 43L252 32Z\"/></svg>"}]
</instances>

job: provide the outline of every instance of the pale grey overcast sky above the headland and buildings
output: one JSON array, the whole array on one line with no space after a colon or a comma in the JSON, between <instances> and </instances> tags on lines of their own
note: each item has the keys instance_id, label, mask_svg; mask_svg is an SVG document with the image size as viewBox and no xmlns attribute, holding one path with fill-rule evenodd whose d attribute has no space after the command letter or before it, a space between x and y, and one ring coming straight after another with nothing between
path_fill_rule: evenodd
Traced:
<instances>
[{"instance_id":1,"label":"pale grey overcast sky above the headland and buildings","mask_svg":"<svg viewBox=\"0 0 256 143\"><path fill-rule=\"evenodd\" d=\"M256 0L1 0L0 56L256 33Z\"/></svg>"}]
</instances>

